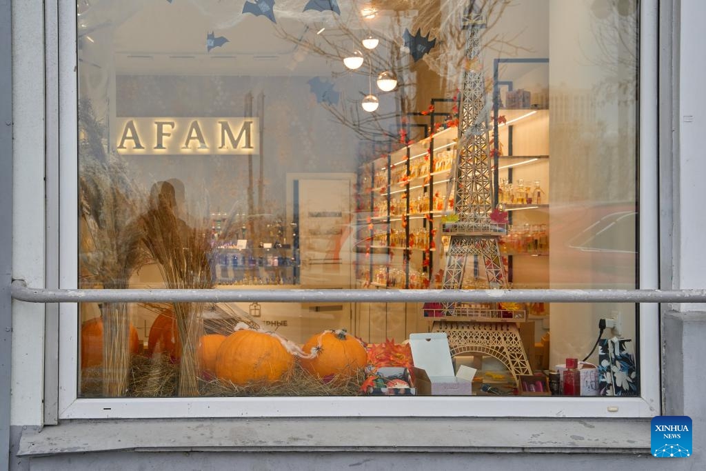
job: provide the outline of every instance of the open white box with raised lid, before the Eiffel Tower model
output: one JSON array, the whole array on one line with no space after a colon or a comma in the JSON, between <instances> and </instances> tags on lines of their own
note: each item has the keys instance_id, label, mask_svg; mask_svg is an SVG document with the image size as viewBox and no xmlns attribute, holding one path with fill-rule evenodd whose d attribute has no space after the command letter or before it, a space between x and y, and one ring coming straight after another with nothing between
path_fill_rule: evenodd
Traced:
<instances>
[{"instance_id":1,"label":"open white box with raised lid, before the Eiffel Tower model","mask_svg":"<svg viewBox=\"0 0 706 471\"><path fill-rule=\"evenodd\" d=\"M417 395L471 395L476 370L460 366L453 374L448 338L444 332L409 335Z\"/></svg>"}]
</instances>

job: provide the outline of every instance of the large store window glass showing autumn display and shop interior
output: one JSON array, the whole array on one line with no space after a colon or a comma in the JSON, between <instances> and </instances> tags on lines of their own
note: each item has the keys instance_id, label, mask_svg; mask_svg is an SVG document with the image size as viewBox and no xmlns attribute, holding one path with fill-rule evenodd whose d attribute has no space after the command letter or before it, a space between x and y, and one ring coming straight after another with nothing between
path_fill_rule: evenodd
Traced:
<instances>
[{"instance_id":1,"label":"large store window glass showing autumn display and shop interior","mask_svg":"<svg viewBox=\"0 0 706 471\"><path fill-rule=\"evenodd\" d=\"M639 286L636 0L75 13L78 287ZM78 398L619 402L641 394L639 314L84 303L66 348Z\"/></svg>"}]
</instances>

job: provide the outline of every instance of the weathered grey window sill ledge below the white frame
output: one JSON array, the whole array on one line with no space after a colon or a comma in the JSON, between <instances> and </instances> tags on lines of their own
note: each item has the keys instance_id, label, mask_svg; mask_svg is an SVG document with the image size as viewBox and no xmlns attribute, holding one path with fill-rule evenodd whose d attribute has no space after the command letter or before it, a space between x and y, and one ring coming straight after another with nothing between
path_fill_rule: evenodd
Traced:
<instances>
[{"instance_id":1,"label":"weathered grey window sill ledge below the white frame","mask_svg":"<svg viewBox=\"0 0 706 471\"><path fill-rule=\"evenodd\" d=\"M650 419L310 418L67 421L18 455L102 451L650 453Z\"/></svg>"}]
</instances>

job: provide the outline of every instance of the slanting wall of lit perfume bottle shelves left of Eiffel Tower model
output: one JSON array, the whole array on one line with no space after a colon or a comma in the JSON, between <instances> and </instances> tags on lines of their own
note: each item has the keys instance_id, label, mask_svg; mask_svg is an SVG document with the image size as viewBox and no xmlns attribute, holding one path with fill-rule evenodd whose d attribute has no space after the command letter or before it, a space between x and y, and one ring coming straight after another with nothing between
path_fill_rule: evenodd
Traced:
<instances>
[{"instance_id":1,"label":"slanting wall of lit perfume bottle shelves left of Eiffel Tower model","mask_svg":"<svg viewBox=\"0 0 706 471\"><path fill-rule=\"evenodd\" d=\"M453 196L449 202L446 193L457 137L457 127L451 126L361 167L361 180L373 177L372 188L359 195L364 203L361 209L368 210L360 213L359 223L388 225L383 231L378 229L381 226L371 226L368 235L373 243L367 256L357 255L359 268L366 268L364 273L358 270L357 279L365 286L429 286L429 273L439 263L438 255L433 256L437 254L434 226L453 208ZM359 239L364 235L359 234Z\"/></svg>"}]
</instances>

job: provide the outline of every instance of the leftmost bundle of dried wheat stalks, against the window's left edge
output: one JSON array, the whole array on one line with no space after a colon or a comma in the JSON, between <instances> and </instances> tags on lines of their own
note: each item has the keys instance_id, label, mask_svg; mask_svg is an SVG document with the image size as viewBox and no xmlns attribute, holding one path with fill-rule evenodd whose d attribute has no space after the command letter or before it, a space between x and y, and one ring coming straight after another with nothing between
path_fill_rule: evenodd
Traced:
<instances>
[{"instance_id":1,"label":"leftmost bundle of dried wheat stalks, against the window's left edge","mask_svg":"<svg viewBox=\"0 0 706 471\"><path fill-rule=\"evenodd\" d=\"M79 118L81 286L124 289L132 273L146 261L138 224L144 198L128 177L124 162L104 153L102 128L90 102L80 102ZM104 303L100 311L103 395L124 395L131 357L127 305Z\"/></svg>"}]
</instances>

